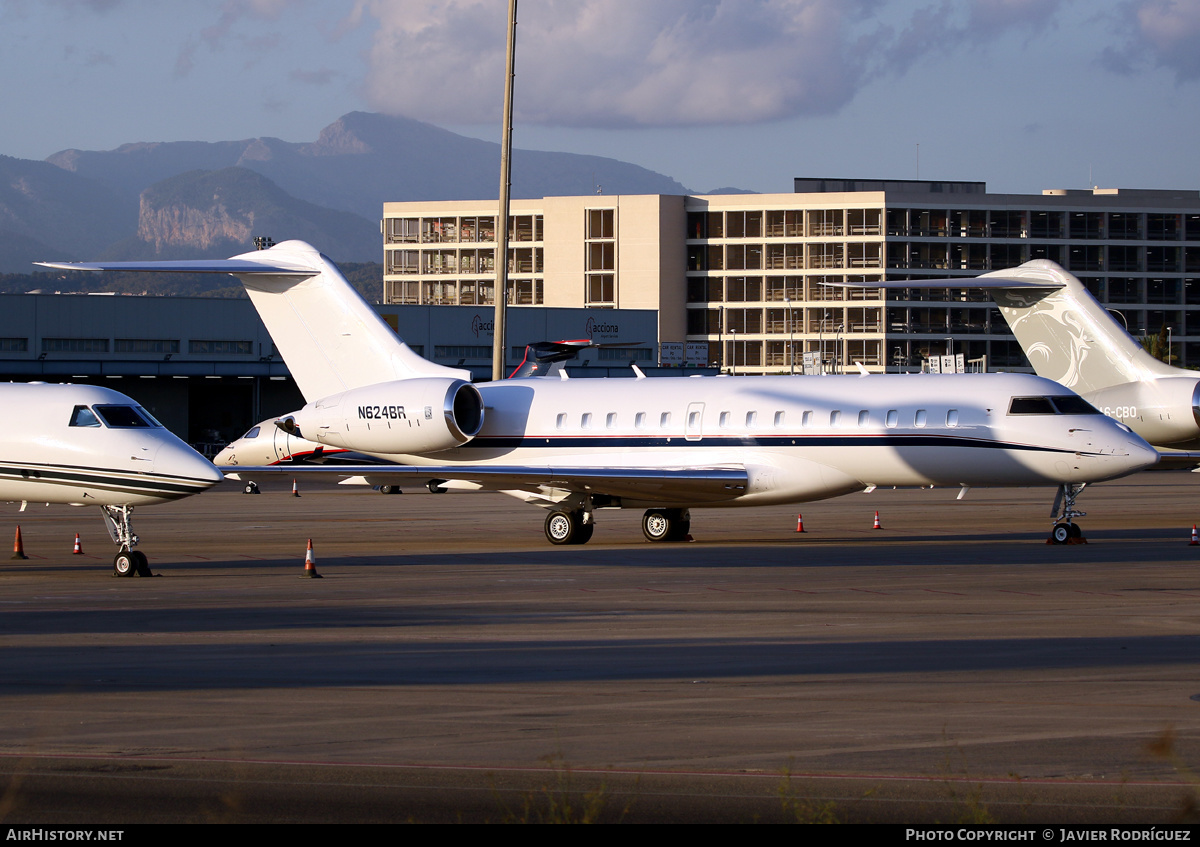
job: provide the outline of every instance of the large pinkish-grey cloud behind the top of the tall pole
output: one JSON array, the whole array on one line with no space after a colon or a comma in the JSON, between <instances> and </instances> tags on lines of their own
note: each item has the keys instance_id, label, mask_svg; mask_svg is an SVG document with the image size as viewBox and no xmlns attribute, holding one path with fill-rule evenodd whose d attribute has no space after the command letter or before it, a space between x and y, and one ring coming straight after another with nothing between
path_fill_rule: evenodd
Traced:
<instances>
[{"instance_id":1,"label":"large pinkish-grey cloud behind the top of the tall pole","mask_svg":"<svg viewBox=\"0 0 1200 847\"><path fill-rule=\"evenodd\" d=\"M1037 31L1062 0L529 0L518 119L581 127L751 124L838 112L868 83L972 38ZM365 95L434 122L499 120L505 4L358 0L378 23Z\"/></svg>"}]
</instances>

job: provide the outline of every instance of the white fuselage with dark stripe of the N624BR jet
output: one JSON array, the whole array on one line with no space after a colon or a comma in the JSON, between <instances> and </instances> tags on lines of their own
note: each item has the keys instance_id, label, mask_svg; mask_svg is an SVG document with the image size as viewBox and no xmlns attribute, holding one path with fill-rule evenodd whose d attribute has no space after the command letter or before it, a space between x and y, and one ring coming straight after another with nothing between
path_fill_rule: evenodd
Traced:
<instances>
[{"instance_id":1,"label":"white fuselage with dark stripe of the N624BR jet","mask_svg":"<svg viewBox=\"0 0 1200 847\"><path fill-rule=\"evenodd\" d=\"M1028 374L534 378L476 388L486 410L473 439L380 458L442 468L746 468L744 493L712 505L815 500L872 485L1097 482L1157 461L1100 414L1009 414L1013 397L1074 397ZM388 400L380 386L377 402ZM323 440L319 431L305 435ZM703 505L686 492L620 503L648 504Z\"/></svg>"}]
</instances>

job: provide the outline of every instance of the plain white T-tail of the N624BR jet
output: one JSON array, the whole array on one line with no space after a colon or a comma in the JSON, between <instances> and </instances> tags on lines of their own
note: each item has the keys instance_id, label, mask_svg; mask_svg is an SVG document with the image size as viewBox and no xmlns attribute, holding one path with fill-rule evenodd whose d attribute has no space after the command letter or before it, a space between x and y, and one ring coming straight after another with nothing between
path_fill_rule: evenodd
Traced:
<instances>
[{"instance_id":1,"label":"plain white T-tail of the N624BR jet","mask_svg":"<svg viewBox=\"0 0 1200 847\"><path fill-rule=\"evenodd\" d=\"M337 266L304 241L232 259L38 263L67 270L233 274L266 325L306 401L414 377L470 380L470 372L418 355L354 290Z\"/></svg>"}]
</instances>

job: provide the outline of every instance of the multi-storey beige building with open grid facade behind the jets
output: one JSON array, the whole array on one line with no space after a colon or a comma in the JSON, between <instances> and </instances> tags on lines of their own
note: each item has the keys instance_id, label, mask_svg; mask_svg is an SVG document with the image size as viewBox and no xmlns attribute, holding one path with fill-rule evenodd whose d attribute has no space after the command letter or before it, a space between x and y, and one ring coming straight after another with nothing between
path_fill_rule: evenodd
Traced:
<instances>
[{"instance_id":1,"label":"multi-storey beige building with open grid facade behind the jets","mask_svg":"<svg viewBox=\"0 0 1200 847\"><path fill-rule=\"evenodd\" d=\"M1079 276L1133 335L1166 326L1200 365L1200 192L990 194L983 182L797 179L791 194L517 200L512 302L652 308L661 342L742 373L1025 358L985 295L870 282L970 277L1030 259ZM384 204L385 302L493 302L494 204ZM866 283L840 288L829 283Z\"/></svg>"}]
</instances>

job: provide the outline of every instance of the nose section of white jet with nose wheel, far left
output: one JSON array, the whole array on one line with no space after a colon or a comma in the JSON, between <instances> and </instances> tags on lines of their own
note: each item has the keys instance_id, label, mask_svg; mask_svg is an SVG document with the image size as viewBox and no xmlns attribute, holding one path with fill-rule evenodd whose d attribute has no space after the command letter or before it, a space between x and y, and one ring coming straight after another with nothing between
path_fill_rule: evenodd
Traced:
<instances>
[{"instance_id":1,"label":"nose section of white jet with nose wheel, far left","mask_svg":"<svg viewBox=\"0 0 1200 847\"><path fill-rule=\"evenodd\" d=\"M198 494L212 463L122 394L95 385L0 384L0 500L100 506L119 576L149 575L133 507Z\"/></svg>"}]
</instances>

